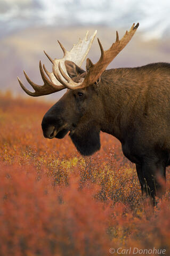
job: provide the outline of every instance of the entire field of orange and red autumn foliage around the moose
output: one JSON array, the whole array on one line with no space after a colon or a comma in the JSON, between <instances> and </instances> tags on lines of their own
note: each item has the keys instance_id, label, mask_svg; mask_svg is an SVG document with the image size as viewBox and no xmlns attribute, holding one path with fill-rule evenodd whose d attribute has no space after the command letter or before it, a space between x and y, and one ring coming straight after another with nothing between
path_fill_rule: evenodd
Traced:
<instances>
[{"instance_id":1,"label":"entire field of orange and red autumn foliage around the moose","mask_svg":"<svg viewBox=\"0 0 170 256\"><path fill-rule=\"evenodd\" d=\"M119 247L169 255L169 171L155 212L144 208L118 140L101 133L101 150L84 158L68 136L43 137L48 108L0 95L0 255L120 255Z\"/></svg>"}]
</instances>

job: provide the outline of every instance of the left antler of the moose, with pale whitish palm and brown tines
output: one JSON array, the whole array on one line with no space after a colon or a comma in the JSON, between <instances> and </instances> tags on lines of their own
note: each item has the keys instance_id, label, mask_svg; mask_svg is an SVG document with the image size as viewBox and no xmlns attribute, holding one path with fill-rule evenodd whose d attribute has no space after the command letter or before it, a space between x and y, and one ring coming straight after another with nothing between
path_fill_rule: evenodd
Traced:
<instances>
[{"instance_id":1,"label":"left antler of the moose, with pale whitish palm and brown tines","mask_svg":"<svg viewBox=\"0 0 170 256\"><path fill-rule=\"evenodd\" d=\"M90 39L88 40L88 31L86 33L86 36L84 37L83 40L79 39L79 42L77 44L74 44L72 49L70 51L67 51L66 49L64 49L63 45L59 42L59 45L61 46L61 49L63 50L64 56L62 59L52 59L45 51L44 53L46 54L47 58L53 63L53 70L55 73L60 74L60 70L59 70L59 63L62 66L62 70L64 70L64 73L67 74L67 70L66 67L64 65L64 62L66 60L71 60L73 62L75 62L78 66L82 65L82 62L84 61L84 59L86 58L86 55L88 53L88 51L91 48L91 45L93 43L94 37L96 35L96 30L94 32L94 34L90 37ZM43 70L44 68L44 70ZM64 88L66 88L66 86L62 85L62 83L60 83L58 81L58 79L56 79L56 77L54 76L53 72L50 73L46 70L45 66L43 65L42 67L42 63L41 61L39 62L39 70L44 82L44 85L37 85L35 84L33 81L31 81L31 79L28 77L28 75L26 74L25 70L23 70L23 73L25 74L25 77L28 81L28 83L33 87L33 89L35 90L35 92L30 92L21 82L21 80L18 77L18 81L20 83L20 86L22 87L22 89L30 96L33 97L37 97L37 96L42 96L42 95L47 95L47 94L51 94L54 92L58 92L63 90ZM47 78L47 76L45 75L45 73L48 75L48 77L50 78L50 80ZM63 79L62 79L63 81Z\"/></svg>"}]
</instances>

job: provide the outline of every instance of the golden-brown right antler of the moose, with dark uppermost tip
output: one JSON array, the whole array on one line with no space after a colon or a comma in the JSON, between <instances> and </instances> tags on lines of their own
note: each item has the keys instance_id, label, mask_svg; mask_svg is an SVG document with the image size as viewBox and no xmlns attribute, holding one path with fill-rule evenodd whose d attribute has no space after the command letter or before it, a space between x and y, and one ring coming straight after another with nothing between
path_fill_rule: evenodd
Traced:
<instances>
[{"instance_id":1,"label":"golden-brown right antler of the moose, with dark uppermost tip","mask_svg":"<svg viewBox=\"0 0 170 256\"><path fill-rule=\"evenodd\" d=\"M117 54L124 49L124 47L128 44L128 42L131 40L133 35L136 32L136 29L139 27L139 23L136 24L133 23L131 29L129 31L126 31L125 35L121 40L119 40L118 32L116 31L116 42L113 43L107 51L103 50L103 47L100 43L100 40L98 38L98 43L101 50L101 57L99 61L96 64L93 64L90 59L87 59L87 63L89 63L90 68L87 70L87 74L84 78L84 81L81 83L75 83L72 81L70 77L67 76L67 74L62 69L62 65L59 63L59 70L63 78L66 79L67 82L61 78L60 74L58 72L55 72L53 68L53 73L56 79L65 87L68 89L76 90L76 89L82 89L86 86L89 86L91 84L94 84L96 81L98 81L99 77L103 73L103 71L107 68L109 63L117 56ZM66 62L67 63L67 62Z\"/></svg>"}]
</instances>

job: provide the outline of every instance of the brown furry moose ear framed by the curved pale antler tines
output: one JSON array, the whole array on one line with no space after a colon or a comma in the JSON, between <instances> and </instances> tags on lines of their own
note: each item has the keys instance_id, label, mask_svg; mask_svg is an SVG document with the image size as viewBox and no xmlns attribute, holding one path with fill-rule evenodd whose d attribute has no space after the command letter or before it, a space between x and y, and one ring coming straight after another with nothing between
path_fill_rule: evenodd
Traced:
<instances>
[{"instance_id":1,"label":"brown furry moose ear framed by the curved pale antler tines","mask_svg":"<svg viewBox=\"0 0 170 256\"><path fill-rule=\"evenodd\" d=\"M67 73L69 77L72 79L74 77L82 77L86 76L86 71L80 67L78 67L74 62L70 60L65 61L65 66L67 69Z\"/></svg>"}]
</instances>

